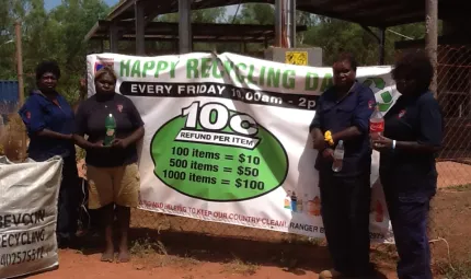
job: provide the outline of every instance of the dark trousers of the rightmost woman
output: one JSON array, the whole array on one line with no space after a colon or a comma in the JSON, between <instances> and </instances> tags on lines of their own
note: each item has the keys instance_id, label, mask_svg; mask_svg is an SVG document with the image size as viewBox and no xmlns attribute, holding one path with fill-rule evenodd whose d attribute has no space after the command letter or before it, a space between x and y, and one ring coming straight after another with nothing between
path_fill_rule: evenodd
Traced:
<instances>
[{"instance_id":1,"label":"dark trousers of the rightmost woman","mask_svg":"<svg viewBox=\"0 0 471 279\"><path fill-rule=\"evenodd\" d=\"M398 191L393 177L381 177L399 254L399 279L432 279L427 220L432 191ZM432 187L430 187L432 188Z\"/></svg>"}]
</instances>

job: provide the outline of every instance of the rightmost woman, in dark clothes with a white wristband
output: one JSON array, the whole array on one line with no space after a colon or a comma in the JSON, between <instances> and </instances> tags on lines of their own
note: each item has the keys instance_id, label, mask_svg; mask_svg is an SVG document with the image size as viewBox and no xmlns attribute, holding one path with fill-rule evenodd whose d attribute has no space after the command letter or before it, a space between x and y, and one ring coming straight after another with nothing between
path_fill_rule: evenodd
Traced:
<instances>
[{"instance_id":1,"label":"rightmost woman, in dark clothes with a white wristband","mask_svg":"<svg viewBox=\"0 0 471 279\"><path fill-rule=\"evenodd\" d=\"M435 153L443 140L443 117L428 86L434 69L424 53L405 55L393 70L402 94L384 116L380 179L394 231L400 279L432 279L427 218L437 187Z\"/></svg>"}]
</instances>

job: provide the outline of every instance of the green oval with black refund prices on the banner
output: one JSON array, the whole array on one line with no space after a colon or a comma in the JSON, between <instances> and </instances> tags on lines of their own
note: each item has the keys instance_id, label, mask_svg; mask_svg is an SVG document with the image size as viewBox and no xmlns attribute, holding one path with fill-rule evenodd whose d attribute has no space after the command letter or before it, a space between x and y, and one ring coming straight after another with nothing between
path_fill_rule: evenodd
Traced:
<instances>
[{"instance_id":1,"label":"green oval with black refund prices on the banner","mask_svg":"<svg viewBox=\"0 0 471 279\"><path fill-rule=\"evenodd\" d=\"M242 115L230 109L227 112L229 118ZM243 129L249 126L256 128L256 133L249 137L234 131L229 120L219 130L205 129L200 121L187 129L188 117L182 113L170 119L152 138L150 152L154 174L162 183L181 194L208 201L253 199L283 185L288 173L288 156L279 140L263 126L242 121L240 127ZM214 125L217 117L211 112L209 125ZM226 141L222 143L209 138L205 142L194 142L179 138L181 132L187 131L212 137L219 135L219 139L225 138ZM241 142L240 138L244 138L245 143L251 140L256 143L236 146L232 141Z\"/></svg>"}]
</instances>

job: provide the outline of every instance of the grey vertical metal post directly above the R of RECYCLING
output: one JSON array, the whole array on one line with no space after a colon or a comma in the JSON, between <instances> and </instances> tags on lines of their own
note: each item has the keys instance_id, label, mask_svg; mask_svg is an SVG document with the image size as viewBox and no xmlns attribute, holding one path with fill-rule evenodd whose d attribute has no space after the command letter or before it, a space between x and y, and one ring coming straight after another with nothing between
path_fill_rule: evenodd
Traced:
<instances>
[{"instance_id":1,"label":"grey vertical metal post directly above the R of RECYCLING","mask_svg":"<svg viewBox=\"0 0 471 279\"><path fill-rule=\"evenodd\" d=\"M179 38L180 53L187 54L192 51L192 5L189 0L179 0Z\"/></svg>"}]
</instances>

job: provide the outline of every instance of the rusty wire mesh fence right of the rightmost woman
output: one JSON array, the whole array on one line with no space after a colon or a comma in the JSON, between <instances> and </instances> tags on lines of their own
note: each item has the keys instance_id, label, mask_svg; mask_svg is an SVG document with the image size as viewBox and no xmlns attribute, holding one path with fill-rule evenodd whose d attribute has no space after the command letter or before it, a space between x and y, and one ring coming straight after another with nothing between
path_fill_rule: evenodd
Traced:
<instances>
[{"instance_id":1,"label":"rusty wire mesh fence right of the rightmost woman","mask_svg":"<svg viewBox=\"0 0 471 279\"><path fill-rule=\"evenodd\" d=\"M440 186L471 184L471 48L438 48L437 98L445 117Z\"/></svg>"}]
</instances>

